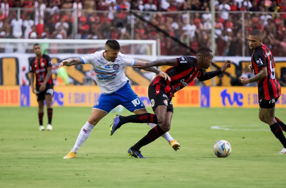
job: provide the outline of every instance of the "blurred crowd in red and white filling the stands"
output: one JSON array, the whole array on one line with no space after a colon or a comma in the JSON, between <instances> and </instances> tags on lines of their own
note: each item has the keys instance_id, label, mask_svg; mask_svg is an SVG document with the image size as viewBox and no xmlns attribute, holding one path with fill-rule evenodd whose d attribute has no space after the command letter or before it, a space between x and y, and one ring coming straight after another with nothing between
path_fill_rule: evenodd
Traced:
<instances>
[{"instance_id":1,"label":"blurred crowd in red and white filling the stands","mask_svg":"<svg viewBox=\"0 0 286 188\"><path fill-rule=\"evenodd\" d=\"M189 55L152 25L194 50L211 47L210 7L209 0L1 0L0 38L160 39L161 55ZM285 56L286 0L216 0L215 10L216 55L250 56L256 28L274 56Z\"/></svg>"}]
</instances>

